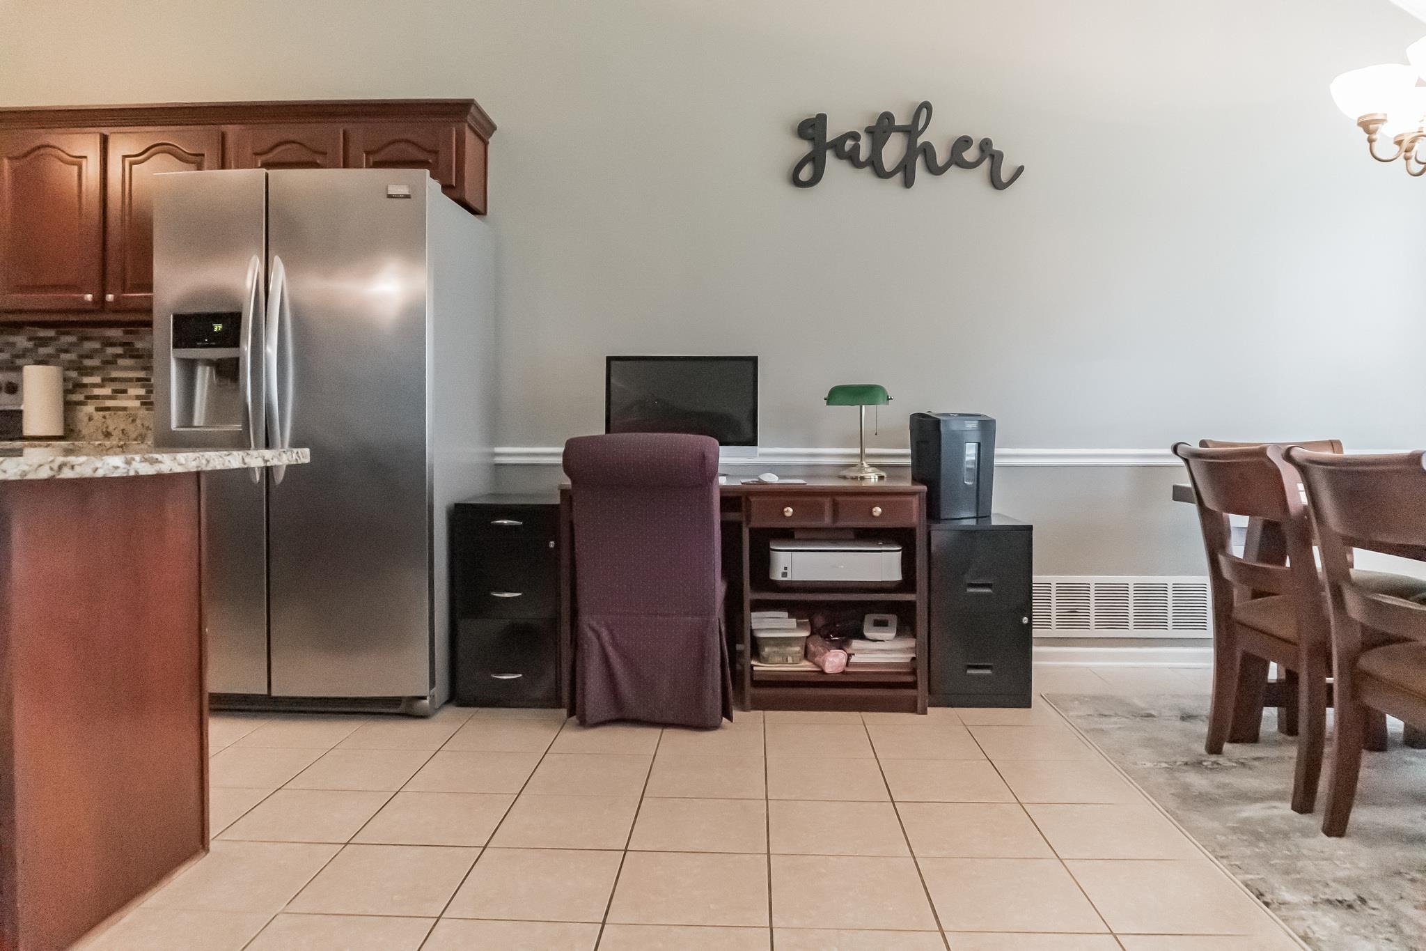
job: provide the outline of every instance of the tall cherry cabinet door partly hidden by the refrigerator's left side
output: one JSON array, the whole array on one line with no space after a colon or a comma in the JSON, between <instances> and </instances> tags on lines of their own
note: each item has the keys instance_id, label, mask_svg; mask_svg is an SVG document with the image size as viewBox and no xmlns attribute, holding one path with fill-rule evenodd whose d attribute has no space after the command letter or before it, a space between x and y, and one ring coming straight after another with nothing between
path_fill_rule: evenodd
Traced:
<instances>
[{"instance_id":1,"label":"tall cherry cabinet door partly hidden by the refrigerator's left side","mask_svg":"<svg viewBox=\"0 0 1426 951\"><path fill-rule=\"evenodd\" d=\"M154 305L154 175L222 165L217 128L175 127L111 133L104 167L104 309Z\"/></svg>"}]
</instances>

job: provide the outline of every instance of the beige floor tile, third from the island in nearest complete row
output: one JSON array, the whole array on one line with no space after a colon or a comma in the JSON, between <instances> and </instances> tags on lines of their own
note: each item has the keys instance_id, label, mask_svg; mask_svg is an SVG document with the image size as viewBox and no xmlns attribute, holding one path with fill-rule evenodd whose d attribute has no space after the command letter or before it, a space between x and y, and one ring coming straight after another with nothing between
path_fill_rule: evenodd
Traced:
<instances>
[{"instance_id":1,"label":"beige floor tile, third from the island in nearest complete row","mask_svg":"<svg viewBox=\"0 0 1426 951\"><path fill-rule=\"evenodd\" d=\"M622 853L486 848L451 900L451 918L603 921Z\"/></svg>"}]
</instances>

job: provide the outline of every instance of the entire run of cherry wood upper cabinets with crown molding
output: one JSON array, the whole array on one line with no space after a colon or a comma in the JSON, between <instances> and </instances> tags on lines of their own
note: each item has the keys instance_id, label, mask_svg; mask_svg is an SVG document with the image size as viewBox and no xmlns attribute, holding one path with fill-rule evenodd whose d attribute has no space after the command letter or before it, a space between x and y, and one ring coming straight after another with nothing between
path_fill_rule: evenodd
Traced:
<instances>
[{"instance_id":1,"label":"entire run of cherry wood upper cabinets with crown molding","mask_svg":"<svg viewBox=\"0 0 1426 951\"><path fill-rule=\"evenodd\" d=\"M475 100L0 108L0 324L148 324L155 174L425 168L485 214L493 131Z\"/></svg>"}]
</instances>

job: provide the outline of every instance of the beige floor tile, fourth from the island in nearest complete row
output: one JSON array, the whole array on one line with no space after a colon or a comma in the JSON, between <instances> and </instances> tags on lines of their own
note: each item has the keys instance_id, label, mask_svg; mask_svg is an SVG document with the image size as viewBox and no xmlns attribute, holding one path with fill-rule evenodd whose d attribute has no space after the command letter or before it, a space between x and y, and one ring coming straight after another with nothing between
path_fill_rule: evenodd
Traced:
<instances>
[{"instance_id":1,"label":"beige floor tile, fourth from the island in nearest complete row","mask_svg":"<svg viewBox=\"0 0 1426 951\"><path fill-rule=\"evenodd\" d=\"M767 857L629 853L609 921L766 928Z\"/></svg>"}]
</instances>

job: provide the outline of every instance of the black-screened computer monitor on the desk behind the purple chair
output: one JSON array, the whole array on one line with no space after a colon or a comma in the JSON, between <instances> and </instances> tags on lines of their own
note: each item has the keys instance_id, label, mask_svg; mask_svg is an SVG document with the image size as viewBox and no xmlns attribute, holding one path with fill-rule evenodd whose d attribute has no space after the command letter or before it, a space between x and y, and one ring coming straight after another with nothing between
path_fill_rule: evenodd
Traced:
<instances>
[{"instance_id":1,"label":"black-screened computer monitor on the desk behind the purple chair","mask_svg":"<svg viewBox=\"0 0 1426 951\"><path fill-rule=\"evenodd\" d=\"M609 356L605 432L713 436L722 456L757 455L756 356Z\"/></svg>"}]
</instances>

